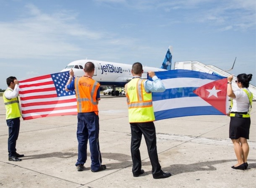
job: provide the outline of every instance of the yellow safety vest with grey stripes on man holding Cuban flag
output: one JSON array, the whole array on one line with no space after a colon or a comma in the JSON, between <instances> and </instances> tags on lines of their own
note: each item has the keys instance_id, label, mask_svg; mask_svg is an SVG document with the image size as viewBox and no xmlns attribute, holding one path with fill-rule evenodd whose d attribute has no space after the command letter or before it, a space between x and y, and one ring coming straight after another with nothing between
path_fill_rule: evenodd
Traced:
<instances>
[{"instance_id":1,"label":"yellow safety vest with grey stripes on man holding Cuban flag","mask_svg":"<svg viewBox=\"0 0 256 188\"><path fill-rule=\"evenodd\" d=\"M155 120L152 93L145 91L144 82L141 78L133 78L125 85L130 123Z\"/></svg>"}]
</instances>

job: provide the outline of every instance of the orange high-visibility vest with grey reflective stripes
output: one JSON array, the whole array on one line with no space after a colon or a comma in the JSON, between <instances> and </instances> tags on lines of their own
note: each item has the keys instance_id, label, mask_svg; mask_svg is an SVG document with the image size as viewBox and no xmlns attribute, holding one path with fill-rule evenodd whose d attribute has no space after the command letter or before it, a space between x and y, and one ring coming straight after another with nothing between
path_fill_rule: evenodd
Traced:
<instances>
[{"instance_id":1,"label":"orange high-visibility vest with grey reflective stripes","mask_svg":"<svg viewBox=\"0 0 256 188\"><path fill-rule=\"evenodd\" d=\"M99 86L100 84L92 78L75 78L78 113L98 111L96 96Z\"/></svg>"}]
</instances>

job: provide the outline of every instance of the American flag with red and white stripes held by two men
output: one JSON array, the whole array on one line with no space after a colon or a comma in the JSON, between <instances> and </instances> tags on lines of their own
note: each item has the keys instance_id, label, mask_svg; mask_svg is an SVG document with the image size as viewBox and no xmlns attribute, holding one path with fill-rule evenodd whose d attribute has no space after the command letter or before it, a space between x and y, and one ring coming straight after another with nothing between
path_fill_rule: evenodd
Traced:
<instances>
[{"instance_id":1,"label":"American flag with red and white stripes held by two men","mask_svg":"<svg viewBox=\"0 0 256 188\"><path fill-rule=\"evenodd\" d=\"M76 115L75 91L66 92L69 71L20 81L21 112L24 120Z\"/></svg>"}]
</instances>

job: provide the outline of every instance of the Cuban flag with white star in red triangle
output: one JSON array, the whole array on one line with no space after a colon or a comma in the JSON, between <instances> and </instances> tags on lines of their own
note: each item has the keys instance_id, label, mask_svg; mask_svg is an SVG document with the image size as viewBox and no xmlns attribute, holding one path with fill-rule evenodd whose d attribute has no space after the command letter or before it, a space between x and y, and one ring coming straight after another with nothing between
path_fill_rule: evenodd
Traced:
<instances>
[{"instance_id":1,"label":"Cuban flag with white star in red triangle","mask_svg":"<svg viewBox=\"0 0 256 188\"><path fill-rule=\"evenodd\" d=\"M155 72L165 92L152 93L155 120L197 115L226 115L227 78L189 70Z\"/></svg>"}]
</instances>

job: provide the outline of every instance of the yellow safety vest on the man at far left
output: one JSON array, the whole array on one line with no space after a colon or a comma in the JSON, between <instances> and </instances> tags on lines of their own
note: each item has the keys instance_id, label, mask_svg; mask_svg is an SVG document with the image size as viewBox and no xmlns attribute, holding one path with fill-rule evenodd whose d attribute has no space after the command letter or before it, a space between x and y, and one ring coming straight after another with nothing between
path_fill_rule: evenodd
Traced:
<instances>
[{"instance_id":1,"label":"yellow safety vest on the man at far left","mask_svg":"<svg viewBox=\"0 0 256 188\"><path fill-rule=\"evenodd\" d=\"M10 90L10 89L7 89L7 90ZM21 117L18 97L13 99L7 99L4 93L3 102L5 104L5 109L6 109L6 119L14 119L17 117Z\"/></svg>"}]
</instances>

